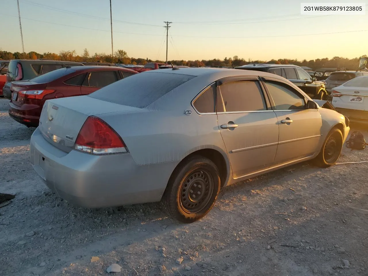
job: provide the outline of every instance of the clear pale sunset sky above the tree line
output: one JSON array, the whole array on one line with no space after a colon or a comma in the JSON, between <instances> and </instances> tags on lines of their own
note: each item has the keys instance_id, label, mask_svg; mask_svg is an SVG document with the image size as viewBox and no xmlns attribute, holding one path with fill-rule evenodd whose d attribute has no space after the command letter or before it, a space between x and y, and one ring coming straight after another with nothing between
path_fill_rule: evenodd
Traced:
<instances>
[{"instance_id":1,"label":"clear pale sunset sky above the tree line","mask_svg":"<svg viewBox=\"0 0 368 276\"><path fill-rule=\"evenodd\" d=\"M19 5L25 52L111 53L109 0L19 0ZM165 59L163 21L173 22L169 60L368 54L368 12L300 15L300 1L288 0L112 0L112 7L114 50L130 57ZM0 17L1 50L22 52L17 1L1 0Z\"/></svg>"}]
</instances>

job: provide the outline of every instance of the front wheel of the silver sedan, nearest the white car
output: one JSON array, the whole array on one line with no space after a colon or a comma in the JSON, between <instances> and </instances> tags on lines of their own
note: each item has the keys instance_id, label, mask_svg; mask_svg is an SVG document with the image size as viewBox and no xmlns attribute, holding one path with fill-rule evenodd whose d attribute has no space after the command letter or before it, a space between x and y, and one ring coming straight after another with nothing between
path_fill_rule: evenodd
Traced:
<instances>
[{"instance_id":1,"label":"front wheel of the silver sedan, nearest the white car","mask_svg":"<svg viewBox=\"0 0 368 276\"><path fill-rule=\"evenodd\" d=\"M333 128L323 142L321 151L315 158L317 166L327 168L336 163L343 148L343 134L338 128Z\"/></svg>"}]
</instances>

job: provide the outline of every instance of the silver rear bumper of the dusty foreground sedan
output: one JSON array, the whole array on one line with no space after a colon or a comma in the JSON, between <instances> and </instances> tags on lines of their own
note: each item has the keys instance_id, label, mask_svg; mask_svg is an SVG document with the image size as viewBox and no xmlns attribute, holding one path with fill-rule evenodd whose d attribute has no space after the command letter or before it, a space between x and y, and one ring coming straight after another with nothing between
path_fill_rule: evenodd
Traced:
<instances>
[{"instance_id":1,"label":"silver rear bumper of the dusty foreground sedan","mask_svg":"<svg viewBox=\"0 0 368 276\"><path fill-rule=\"evenodd\" d=\"M33 169L47 187L86 208L160 201L179 162L137 165L128 153L66 153L47 142L38 128L31 137L30 154Z\"/></svg>"}]
</instances>

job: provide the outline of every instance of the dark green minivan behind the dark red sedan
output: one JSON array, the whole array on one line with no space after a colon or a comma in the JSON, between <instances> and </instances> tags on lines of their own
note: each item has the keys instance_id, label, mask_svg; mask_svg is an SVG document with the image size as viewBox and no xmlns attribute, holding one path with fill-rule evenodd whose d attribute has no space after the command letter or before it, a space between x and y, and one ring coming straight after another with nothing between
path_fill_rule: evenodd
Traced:
<instances>
[{"instance_id":1,"label":"dark green minivan behind the dark red sedan","mask_svg":"<svg viewBox=\"0 0 368 276\"><path fill-rule=\"evenodd\" d=\"M56 69L67 66L81 66L82 63L60 60L20 60L13 59L9 62L6 83L3 88L4 97L11 98L11 82L28 80L43 75Z\"/></svg>"}]
</instances>

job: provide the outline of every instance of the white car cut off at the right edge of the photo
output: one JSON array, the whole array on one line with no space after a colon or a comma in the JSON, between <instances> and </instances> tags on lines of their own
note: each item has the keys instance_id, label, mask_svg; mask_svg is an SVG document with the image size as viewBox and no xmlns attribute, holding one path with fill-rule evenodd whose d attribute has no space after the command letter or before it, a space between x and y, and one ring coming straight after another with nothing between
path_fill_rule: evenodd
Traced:
<instances>
[{"instance_id":1,"label":"white car cut off at the right edge of the photo","mask_svg":"<svg viewBox=\"0 0 368 276\"><path fill-rule=\"evenodd\" d=\"M351 121L368 122L368 75L332 89L332 105Z\"/></svg>"}]
</instances>

